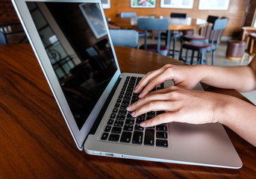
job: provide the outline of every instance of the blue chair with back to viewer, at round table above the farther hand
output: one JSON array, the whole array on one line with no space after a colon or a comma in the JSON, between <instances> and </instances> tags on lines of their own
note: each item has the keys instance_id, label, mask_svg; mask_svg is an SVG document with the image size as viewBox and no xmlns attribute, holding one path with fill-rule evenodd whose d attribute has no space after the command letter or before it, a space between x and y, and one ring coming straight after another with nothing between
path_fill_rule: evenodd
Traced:
<instances>
[{"instance_id":1,"label":"blue chair with back to viewer, at round table above the farther hand","mask_svg":"<svg viewBox=\"0 0 256 179\"><path fill-rule=\"evenodd\" d=\"M160 34L161 31L167 31L169 28L169 21L167 19L144 19L140 18L137 20L137 28L144 31L144 44L140 46L140 49L147 51L153 51L158 54L167 56L169 53L169 46L161 45ZM157 44L147 43L148 31L158 31ZM167 40L170 39L169 31L167 33Z\"/></svg>"}]
</instances>

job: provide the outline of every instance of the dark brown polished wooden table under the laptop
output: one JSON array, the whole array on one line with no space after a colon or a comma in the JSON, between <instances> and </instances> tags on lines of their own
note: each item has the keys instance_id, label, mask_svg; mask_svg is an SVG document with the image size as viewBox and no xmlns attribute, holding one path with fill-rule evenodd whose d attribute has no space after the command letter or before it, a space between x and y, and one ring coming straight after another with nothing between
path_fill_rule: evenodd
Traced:
<instances>
[{"instance_id":1,"label":"dark brown polished wooden table under the laptop","mask_svg":"<svg viewBox=\"0 0 256 179\"><path fill-rule=\"evenodd\" d=\"M78 151L29 44L0 45L0 178L255 178L256 148L226 128L242 169L98 157ZM122 72L178 60L116 47ZM244 98L234 90L207 90Z\"/></svg>"}]
</instances>

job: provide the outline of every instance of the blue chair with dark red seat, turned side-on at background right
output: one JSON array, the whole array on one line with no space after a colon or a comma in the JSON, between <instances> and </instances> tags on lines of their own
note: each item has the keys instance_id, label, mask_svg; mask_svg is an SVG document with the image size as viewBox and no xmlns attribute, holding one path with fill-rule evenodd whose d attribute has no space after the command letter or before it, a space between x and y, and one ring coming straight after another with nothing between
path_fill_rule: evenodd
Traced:
<instances>
[{"instance_id":1,"label":"blue chair with dark red seat, turned side-on at background right","mask_svg":"<svg viewBox=\"0 0 256 179\"><path fill-rule=\"evenodd\" d=\"M212 31L211 31L211 33L213 33L213 35L212 36L210 35L210 37L208 39L209 43L205 43L203 41L202 42L191 41L188 43L184 43L181 48L181 54L182 54L183 48L187 49L186 58L185 58L185 60L182 59L181 54L180 54L179 60L184 60L186 63L188 63L188 53L189 53L189 50L191 50L192 51L191 60L190 60L191 65L193 64L193 58L194 58L195 51L198 51L196 63L201 63L201 64L206 63L207 64L207 53L212 51L212 65L214 65L215 50L216 50L216 48L218 48L222 31L225 29L227 23L228 23L228 19L216 19L216 21L213 24ZM217 33L218 33L217 40L215 40ZM206 54L206 58L204 60L205 54Z\"/></svg>"}]
</instances>

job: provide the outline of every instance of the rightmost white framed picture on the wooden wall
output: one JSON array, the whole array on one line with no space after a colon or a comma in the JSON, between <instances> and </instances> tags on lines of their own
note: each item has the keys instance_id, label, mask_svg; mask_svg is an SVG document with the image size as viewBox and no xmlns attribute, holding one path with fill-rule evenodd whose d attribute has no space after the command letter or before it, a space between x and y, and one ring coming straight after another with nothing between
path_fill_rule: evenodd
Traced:
<instances>
[{"instance_id":1,"label":"rightmost white framed picture on the wooden wall","mask_svg":"<svg viewBox=\"0 0 256 179\"><path fill-rule=\"evenodd\" d=\"M199 0L199 10L228 10L229 0Z\"/></svg>"}]
</instances>

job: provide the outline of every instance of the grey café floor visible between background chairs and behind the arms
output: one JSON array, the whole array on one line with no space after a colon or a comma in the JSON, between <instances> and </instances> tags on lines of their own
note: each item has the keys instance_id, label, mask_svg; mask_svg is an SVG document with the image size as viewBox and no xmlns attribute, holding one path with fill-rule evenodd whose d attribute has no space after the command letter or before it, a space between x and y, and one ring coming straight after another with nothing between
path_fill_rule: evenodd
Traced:
<instances>
[{"instance_id":1,"label":"grey caf\u00e9 floor visible between background chairs and behind the arms","mask_svg":"<svg viewBox=\"0 0 256 179\"><path fill-rule=\"evenodd\" d=\"M148 43L150 43L152 39L149 38ZM143 44L143 38L140 38L139 46ZM247 65L248 57L243 61L243 64L240 64L240 60L229 60L225 57L225 52L227 49L228 42L221 42L219 43L219 47L216 50L215 54L215 63L214 66L240 66L240 65ZM180 48L180 43L177 43L178 48ZM178 55L175 57L178 59ZM208 62L207 65L211 65L211 53L208 54ZM246 96L253 104L256 105L256 90L252 92L242 92L242 95Z\"/></svg>"}]
</instances>

